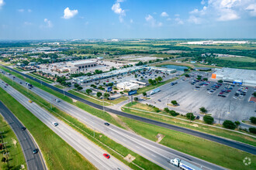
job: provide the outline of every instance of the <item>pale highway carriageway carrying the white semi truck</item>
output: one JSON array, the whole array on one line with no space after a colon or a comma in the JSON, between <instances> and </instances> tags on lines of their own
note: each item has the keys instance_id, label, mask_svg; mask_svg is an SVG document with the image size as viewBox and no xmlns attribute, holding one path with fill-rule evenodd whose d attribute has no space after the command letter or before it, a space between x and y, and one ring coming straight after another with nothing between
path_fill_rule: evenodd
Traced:
<instances>
[{"instance_id":1,"label":"pale highway carriageway carrying the white semi truck","mask_svg":"<svg viewBox=\"0 0 256 170\"><path fill-rule=\"evenodd\" d=\"M19 80L17 77L14 80L17 83L22 82L22 85L25 86L23 80ZM61 110L64 110L64 112L67 114L71 114L71 116L78 118L79 121L88 125L92 129L106 134L106 136L112 138L112 140L118 142L126 148L130 148L130 150L137 152L139 155L142 155L144 158L147 158L151 162L154 162L163 168L175 169L175 166L168 164L168 159L181 158L187 162L202 167L202 169L223 169L218 165L213 165L212 163L205 162L199 158L186 155L180 151L175 151L174 149L157 144L154 141L147 140L146 138L143 138L137 134L133 134L129 131L123 130L122 128L118 128L115 125L111 124L109 127L107 127L104 125L106 121L100 119L99 117L95 117L85 110L81 110L80 108L75 107L74 105L61 99L58 99L61 100L61 102L56 102L55 99L57 99L57 97L47 93L44 90L40 90L37 87L33 87L31 90L44 100L47 100Z\"/></svg>"}]
</instances>

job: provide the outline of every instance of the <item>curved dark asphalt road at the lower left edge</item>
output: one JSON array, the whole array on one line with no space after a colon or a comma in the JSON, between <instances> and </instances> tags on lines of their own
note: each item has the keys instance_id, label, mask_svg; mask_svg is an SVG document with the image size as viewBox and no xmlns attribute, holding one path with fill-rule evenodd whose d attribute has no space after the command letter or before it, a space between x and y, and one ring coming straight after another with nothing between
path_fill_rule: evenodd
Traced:
<instances>
[{"instance_id":1,"label":"curved dark asphalt road at the lower left edge","mask_svg":"<svg viewBox=\"0 0 256 170\"><path fill-rule=\"evenodd\" d=\"M26 165L28 170L46 170L47 166L43 161L43 156L39 151L37 154L33 154L33 149L38 148L33 137L29 134L29 131L22 131L21 128L24 127L22 123L17 119L12 112L5 107L5 105L0 100L0 114L5 118L5 121L12 128L12 131L16 134L19 140L19 144L22 147L23 154L25 156Z\"/></svg>"}]
</instances>

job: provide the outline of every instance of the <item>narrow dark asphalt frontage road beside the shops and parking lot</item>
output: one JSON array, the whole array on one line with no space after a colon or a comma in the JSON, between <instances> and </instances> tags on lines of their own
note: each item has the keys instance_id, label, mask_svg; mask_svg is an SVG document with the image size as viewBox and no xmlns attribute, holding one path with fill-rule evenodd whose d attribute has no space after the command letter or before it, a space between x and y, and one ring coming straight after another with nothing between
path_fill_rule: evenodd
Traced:
<instances>
[{"instance_id":1,"label":"narrow dark asphalt frontage road beside the shops and parking lot","mask_svg":"<svg viewBox=\"0 0 256 170\"><path fill-rule=\"evenodd\" d=\"M40 80L34 78L33 76L29 76L29 75L26 75L24 73L20 73L19 71L14 70L14 69L10 68L9 66L4 66L4 67L9 69L9 70L12 70L13 72L19 73L22 76L26 76L29 79L34 80L38 83L42 83L44 86L50 87L51 89L56 90L57 92L65 93L65 95L67 95L68 97L73 98L74 100L81 101L84 104L88 104L88 105L90 105L92 107L95 107L95 108L98 108L100 110L103 109L103 107L99 104L94 104L94 103L92 103L88 100L82 99L81 97L77 97L74 94L64 92L64 90L58 89L57 87L51 86L50 84L44 83L43 81L41 82ZM175 130L175 131L181 131L181 132L186 133L186 134L192 134L192 135L197 136L199 138L205 138L209 141L215 141L215 142L220 143L222 145L227 145L227 146L230 146L230 147L233 147L233 148L240 149L241 151L247 151L251 154L256 155L256 148L254 146L246 145L246 144L241 143L239 141L232 141L232 140L229 140L227 138L221 138L221 137L214 136L214 135L211 135L211 134L205 134L205 133L202 133L202 132L199 132L199 131L193 131L193 130L188 129L188 128L182 128L182 127L178 127L178 126L175 126L175 125L172 125L172 124L166 124L166 123L163 123L161 121L154 121L154 120L151 120L151 119L148 119L148 118L145 118L145 117L139 117L139 116L136 116L136 115L133 115L133 114L127 114L123 111L114 110L114 109L111 109L109 107L105 107L105 110L107 112L112 113L112 114L117 114L119 116L128 117L128 118L131 118L131 119L134 119L134 120L137 120L137 121L142 121L142 122L145 122L145 123L148 123L148 124L154 124L154 125L157 125L159 127L168 128L168 129Z\"/></svg>"}]
</instances>

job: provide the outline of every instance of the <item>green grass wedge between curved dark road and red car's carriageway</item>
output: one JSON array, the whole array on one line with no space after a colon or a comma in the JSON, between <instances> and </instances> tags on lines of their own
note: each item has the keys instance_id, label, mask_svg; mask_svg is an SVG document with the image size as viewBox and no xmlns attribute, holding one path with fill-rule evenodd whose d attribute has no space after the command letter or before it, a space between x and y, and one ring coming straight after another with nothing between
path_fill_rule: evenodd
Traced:
<instances>
[{"instance_id":1,"label":"green grass wedge between curved dark road and red car's carriageway","mask_svg":"<svg viewBox=\"0 0 256 170\"><path fill-rule=\"evenodd\" d=\"M40 146L43 158L49 169L96 169L78 151L74 150L54 131L50 130L43 122L35 117L26 107L19 104L9 93L0 88L0 97L6 107L22 121L30 134Z\"/></svg>"}]
</instances>

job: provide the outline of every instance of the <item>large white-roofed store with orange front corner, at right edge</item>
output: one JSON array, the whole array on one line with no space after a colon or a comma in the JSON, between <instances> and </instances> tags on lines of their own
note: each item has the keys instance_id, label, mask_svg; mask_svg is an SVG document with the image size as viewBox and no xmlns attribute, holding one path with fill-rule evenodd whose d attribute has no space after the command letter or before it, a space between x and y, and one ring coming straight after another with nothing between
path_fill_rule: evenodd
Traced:
<instances>
[{"instance_id":1,"label":"large white-roofed store with orange front corner, at right edge","mask_svg":"<svg viewBox=\"0 0 256 170\"><path fill-rule=\"evenodd\" d=\"M212 79L256 87L256 70L222 68L212 74Z\"/></svg>"}]
</instances>

